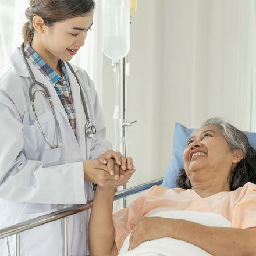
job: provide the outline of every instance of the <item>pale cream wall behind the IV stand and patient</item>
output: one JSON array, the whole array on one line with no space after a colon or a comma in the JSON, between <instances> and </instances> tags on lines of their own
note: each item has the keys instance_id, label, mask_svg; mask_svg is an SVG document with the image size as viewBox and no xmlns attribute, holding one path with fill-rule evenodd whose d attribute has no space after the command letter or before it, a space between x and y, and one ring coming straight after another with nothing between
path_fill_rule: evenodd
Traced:
<instances>
[{"instance_id":1,"label":"pale cream wall behind the IV stand and patient","mask_svg":"<svg viewBox=\"0 0 256 256\"><path fill-rule=\"evenodd\" d=\"M254 1L254 0L253 0ZM140 0L131 24L127 155L137 172L128 186L163 176L175 122L198 127L224 116L250 130L244 118L251 0ZM103 108L113 136L115 86L104 59ZM248 88L247 88L248 87ZM248 97L247 97L248 99ZM109 104L109 101L112 104ZM247 111L247 112L246 112Z\"/></svg>"}]
</instances>

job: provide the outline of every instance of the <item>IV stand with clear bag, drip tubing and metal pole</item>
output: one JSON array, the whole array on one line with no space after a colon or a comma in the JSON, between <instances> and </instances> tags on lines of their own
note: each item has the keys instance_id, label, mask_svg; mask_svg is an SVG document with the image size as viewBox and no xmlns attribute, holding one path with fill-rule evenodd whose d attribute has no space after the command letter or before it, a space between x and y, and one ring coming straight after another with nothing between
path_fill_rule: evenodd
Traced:
<instances>
[{"instance_id":1,"label":"IV stand with clear bag, drip tubing and metal pole","mask_svg":"<svg viewBox=\"0 0 256 256\"><path fill-rule=\"evenodd\" d=\"M130 7L130 8L129 8ZM128 9L129 8L129 9ZM120 126L120 152L126 157L126 136L127 136L127 126L131 126L131 124L137 122L128 122L126 119L126 88L127 88L127 76L130 74L129 63L127 63L127 52L129 52L130 48L130 34L129 37L124 37L124 33L130 33L130 24L131 24L131 15L137 9L137 0L104 0L102 1L102 20L104 18L108 20L108 22L102 23L102 31L103 37L103 52L104 54L112 59L113 73L114 73L114 81L116 86L116 106L115 111L113 113L114 128L115 128L115 147L118 141L118 136L116 132L116 120L119 119L119 105L118 105L118 90L120 84L120 105L121 105L121 118L119 119ZM113 12L112 15L111 11ZM129 13L130 19L129 19ZM119 13L120 12L120 13ZM129 24L130 21L130 24ZM119 24L118 22L123 22L123 26L116 26ZM108 26L107 26L108 25ZM111 25L111 26L109 26ZM120 41L120 35L124 37L123 40ZM115 40L115 44L113 45L113 40ZM129 40L126 42L125 40ZM113 48L114 47L114 48ZM125 57L123 57L125 56ZM120 73L120 83L119 83L119 73ZM123 188L126 189L126 185L119 187L118 189ZM121 208L126 207L126 198L122 199Z\"/></svg>"}]
</instances>

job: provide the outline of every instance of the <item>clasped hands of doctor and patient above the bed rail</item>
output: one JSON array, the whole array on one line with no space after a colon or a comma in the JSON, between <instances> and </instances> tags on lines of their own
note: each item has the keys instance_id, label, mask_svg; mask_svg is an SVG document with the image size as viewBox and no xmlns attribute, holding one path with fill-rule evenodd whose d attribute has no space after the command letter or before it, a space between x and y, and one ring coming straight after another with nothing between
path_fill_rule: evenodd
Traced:
<instances>
[{"instance_id":1,"label":"clasped hands of doctor and patient above the bed rail","mask_svg":"<svg viewBox=\"0 0 256 256\"><path fill-rule=\"evenodd\" d=\"M133 159L113 150L108 150L97 160L84 161L84 180L101 187L122 186L134 171Z\"/></svg>"}]
</instances>

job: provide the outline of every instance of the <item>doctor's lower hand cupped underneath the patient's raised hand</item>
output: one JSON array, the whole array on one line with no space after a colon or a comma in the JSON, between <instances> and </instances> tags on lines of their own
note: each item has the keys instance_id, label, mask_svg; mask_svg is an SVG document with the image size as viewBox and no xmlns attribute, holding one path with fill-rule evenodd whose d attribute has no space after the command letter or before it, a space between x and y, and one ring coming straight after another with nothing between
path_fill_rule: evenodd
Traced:
<instances>
[{"instance_id":1,"label":"doctor's lower hand cupped underneath the patient's raised hand","mask_svg":"<svg viewBox=\"0 0 256 256\"><path fill-rule=\"evenodd\" d=\"M118 165L115 165L115 169L117 168L117 166ZM120 169L119 166L118 168ZM131 172L133 173L134 171L131 171ZM122 184L125 184L127 182L127 180L124 179L127 176L129 175L123 176L122 179L116 179L115 176L109 173L108 166L106 164L103 164L98 160L84 161L84 180L86 180L87 182L96 183L102 187L105 187L105 186L118 187L118 186L122 186Z\"/></svg>"}]
</instances>

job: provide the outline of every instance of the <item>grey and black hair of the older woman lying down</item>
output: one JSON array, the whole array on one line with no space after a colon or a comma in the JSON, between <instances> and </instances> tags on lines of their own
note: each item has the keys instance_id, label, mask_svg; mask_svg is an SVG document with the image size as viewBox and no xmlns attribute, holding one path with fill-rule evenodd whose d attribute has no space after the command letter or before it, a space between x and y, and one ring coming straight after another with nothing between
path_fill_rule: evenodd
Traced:
<instances>
[{"instance_id":1,"label":"grey and black hair of the older woman lying down","mask_svg":"<svg viewBox=\"0 0 256 256\"><path fill-rule=\"evenodd\" d=\"M236 167L229 174L228 182L230 191L244 186L247 182L256 184L256 151L251 147L246 134L222 118L207 119L202 123L201 127L207 125L218 126L226 138L229 148L243 152L243 159L237 163ZM179 170L176 185L183 189L191 189L190 180L184 169Z\"/></svg>"}]
</instances>

